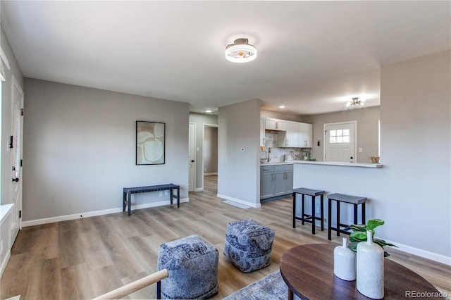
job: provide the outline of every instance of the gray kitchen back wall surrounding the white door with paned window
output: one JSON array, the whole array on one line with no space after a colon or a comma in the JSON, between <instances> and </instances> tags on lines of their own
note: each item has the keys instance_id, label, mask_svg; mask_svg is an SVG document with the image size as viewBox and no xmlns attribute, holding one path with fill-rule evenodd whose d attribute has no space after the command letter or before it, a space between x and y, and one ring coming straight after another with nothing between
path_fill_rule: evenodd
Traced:
<instances>
[{"instance_id":1,"label":"gray kitchen back wall surrounding the white door with paned window","mask_svg":"<svg viewBox=\"0 0 451 300\"><path fill-rule=\"evenodd\" d=\"M378 156L378 120L380 106L357 108L338 113L304 115L302 122L313 124L313 157L323 161L324 124L357 120L357 163L370 163L369 156ZM318 140L320 146L318 146ZM362 147L362 152L358 149ZM383 162L383 157L381 157Z\"/></svg>"}]
</instances>

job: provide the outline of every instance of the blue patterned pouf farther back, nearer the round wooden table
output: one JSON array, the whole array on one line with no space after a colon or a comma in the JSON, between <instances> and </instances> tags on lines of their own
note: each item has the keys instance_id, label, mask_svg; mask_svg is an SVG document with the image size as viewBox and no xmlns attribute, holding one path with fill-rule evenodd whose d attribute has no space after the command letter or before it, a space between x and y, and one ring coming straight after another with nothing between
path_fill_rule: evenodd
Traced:
<instances>
[{"instance_id":1,"label":"blue patterned pouf farther back, nearer the round wooden table","mask_svg":"<svg viewBox=\"0 0 451 300\"><path fill-rule=\"evenodd\" d=\"M240 220L227 225L224 255L244 273L265 268L271 263L274 232L255 220Z\"/></svg>"}]
</instances>

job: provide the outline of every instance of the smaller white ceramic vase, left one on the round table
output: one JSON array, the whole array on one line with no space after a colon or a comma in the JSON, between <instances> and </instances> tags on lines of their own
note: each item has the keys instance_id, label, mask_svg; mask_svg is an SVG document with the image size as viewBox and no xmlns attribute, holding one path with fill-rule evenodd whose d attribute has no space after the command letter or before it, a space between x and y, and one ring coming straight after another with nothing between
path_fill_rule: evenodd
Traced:
<instances>
[{"instance_id":1,"label":"smaller white ceramic vase, left one on the round table","mask_svg":"<svg viewBox=\"0 0 451 300\"><path fill-rule=\"evenodd\" d=\"M343 237L343 245L333 249L333 273L342 280L355 280L355 254L347 248L347 238Z\"/></svg>"}]
</instances>

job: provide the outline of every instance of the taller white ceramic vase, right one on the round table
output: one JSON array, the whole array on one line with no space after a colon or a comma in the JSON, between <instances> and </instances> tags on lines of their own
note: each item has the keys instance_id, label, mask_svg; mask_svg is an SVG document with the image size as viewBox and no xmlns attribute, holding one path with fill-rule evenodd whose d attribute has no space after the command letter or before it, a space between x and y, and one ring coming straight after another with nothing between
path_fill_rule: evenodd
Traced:
<instances>
[{"instance_id":1,"label":"taller white ceramic vase, right one on the round table","mask_svg":"<svg viewBox=\"0 0 451 300\"><path fill-rule=\"evenodd\" d=\"M372 299L383 299L383 249L373 243L371 230L366 242L357 244L357 290Z\"/></svg>"}]
</instances>

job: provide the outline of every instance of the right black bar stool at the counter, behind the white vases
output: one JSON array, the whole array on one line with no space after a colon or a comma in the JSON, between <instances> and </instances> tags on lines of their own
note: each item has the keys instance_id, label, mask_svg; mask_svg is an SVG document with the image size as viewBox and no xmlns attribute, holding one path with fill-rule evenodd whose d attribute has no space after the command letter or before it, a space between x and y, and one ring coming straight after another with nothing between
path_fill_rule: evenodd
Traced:
<instances>
[{"instance_id":1,"label":"right black bar stool at the counter, behind the white vases","mask_svg":"<svg viewBox=\"0 0 451 300\"><path fill-rule=\"evenodd\" d=\"M330 194L327 196L329 199L329 205L328 205L328 239L332 239L332 230L337 232L337 236L340 236L340 232L344 233L346 235L350 235L349 227L350 225L345 225L340 223L340 203L345 202L347 204L353 204L354 205L354 224L357 223L357 209L359 204L362 205L362 224L365 224L365 202L366 197L361 196L350 196L345 194ZM337 227L332 227L332 201L337 201ZM344 228L342 228L344 227Z\"/></svg>"}]
</instances>

